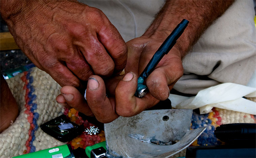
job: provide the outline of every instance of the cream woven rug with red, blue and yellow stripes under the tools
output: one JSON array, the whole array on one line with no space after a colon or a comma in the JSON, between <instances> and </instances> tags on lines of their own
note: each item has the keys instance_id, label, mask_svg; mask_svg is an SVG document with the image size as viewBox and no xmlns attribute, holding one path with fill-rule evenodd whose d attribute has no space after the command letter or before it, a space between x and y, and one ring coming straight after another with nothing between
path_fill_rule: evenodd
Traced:
<instances>
[{"instance_id":1,"label":"cream woven rug with red, blue and yellow stripes under the tools","mask_svg":"<svg viewBox=\"0 0 256 158\"><path fill-rule=\"evenodd\" d=\"M55 98L60 93L60 86L50 75L38 68L32 68L6 80L19 105L19 116L12 125L0 134L0 157L13 157L39 151L63 144L70 144L73 149L86 148L104 141L104 132L87 135L83 132L70 142L60 142L44 133L39 126L62 114L71 121L83 124L85 129L93 124L83 120L74 109L68 110L57 104ZM256 98L249 98L256 102ZM209 114L199 115L193 112L191 129L207 127L204 133L192 145L222 144L214 136L217 126L226 123L256 123L255 116L224 109L213 109ZM185 156L185 151L173 157Z\"/></svg>"}]
</instances>

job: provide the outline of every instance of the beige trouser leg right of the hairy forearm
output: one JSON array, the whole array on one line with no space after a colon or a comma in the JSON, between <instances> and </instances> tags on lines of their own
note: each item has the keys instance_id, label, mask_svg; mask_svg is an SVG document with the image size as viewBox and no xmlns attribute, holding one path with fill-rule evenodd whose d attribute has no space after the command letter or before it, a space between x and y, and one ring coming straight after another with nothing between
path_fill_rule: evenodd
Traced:
<instances>
[{"instance_id":1,"label":"beige trouser leg right of the hairy forearm","mask_svg":"<svg viewBox=\"0 0 256 158\"><path fill-rule=\"evenodd\" d=\"M247 85L256 70L254 16L252 1L235 1L185 56L184 76L173 88L196 94L219 83Z\"/></svg>"}]
</instances>

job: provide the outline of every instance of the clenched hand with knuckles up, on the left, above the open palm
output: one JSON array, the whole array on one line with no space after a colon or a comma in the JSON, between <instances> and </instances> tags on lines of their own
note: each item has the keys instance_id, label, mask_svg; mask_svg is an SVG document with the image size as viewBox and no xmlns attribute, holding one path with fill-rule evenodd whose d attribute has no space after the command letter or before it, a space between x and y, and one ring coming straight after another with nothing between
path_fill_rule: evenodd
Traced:
<instances>
[{"instance_id":1,"label":"clenched hand with knuckles up, on the left, above the open palm","mask_svg":"<svg viewBox=\"0 0 256 158\"><path fill-rule=\"evenodd\" d=\"M21 5L18 13L1 11L11 34L28 58L61 86L81 87L93 74L104 77L124 69L127 46L101 10L76 1L16 3Z\"/></svg>"}]
</instances>

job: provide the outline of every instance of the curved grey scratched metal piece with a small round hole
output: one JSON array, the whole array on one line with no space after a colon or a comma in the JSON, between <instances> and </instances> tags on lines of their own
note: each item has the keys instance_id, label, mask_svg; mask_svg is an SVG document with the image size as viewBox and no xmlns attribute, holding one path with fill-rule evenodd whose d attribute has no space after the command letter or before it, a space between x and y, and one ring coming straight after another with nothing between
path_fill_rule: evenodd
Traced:
<instances>
[{"instance_id":1,"label":"curved grey scratched metal piece with a small round hole","mask_svg":"<svg viewBox=\"0 0 256 158\"><path fill-rule=\"evenodd\" d=\"M190 130L191 117L191 109L149 110L133 117L119 117L104 124L106 156L170 157L192 144L205 130Z\"/></svg>"}]
</instances>

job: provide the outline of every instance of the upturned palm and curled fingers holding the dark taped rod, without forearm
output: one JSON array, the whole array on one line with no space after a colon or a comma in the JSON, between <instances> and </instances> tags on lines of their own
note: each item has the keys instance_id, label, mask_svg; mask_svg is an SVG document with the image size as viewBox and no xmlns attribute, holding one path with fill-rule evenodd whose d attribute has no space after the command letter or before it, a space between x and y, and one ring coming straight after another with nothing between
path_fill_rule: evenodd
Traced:
<instances>
[{"instance_id":1,"label":"upturned palm and curled fingers holding the dark taped rod, without forearm","mask_svg":"<svg viewBox=\"0 0 256 158\"><path fill-rule=\"evenodd\" d=\"M134 96L137 78L146 67L153 54L163 41L154 38L135 38L127 42L128 60L124 76L109 79L106 85L102 78L93 75L88 80L87 103L83 96L71 86L62 87L57 102L66 107L75 108L86 115L93 116L103 123L111 122L119 115L130 117L156 105L159 100L169 96L175 82L183 75L179 50L173 47L163 57L155 70L146 80L149 92L142 98ZM106 88L109 97L106 97ZM72 100L65 97L72 95Z\"/></svg>"}]
</instances>

